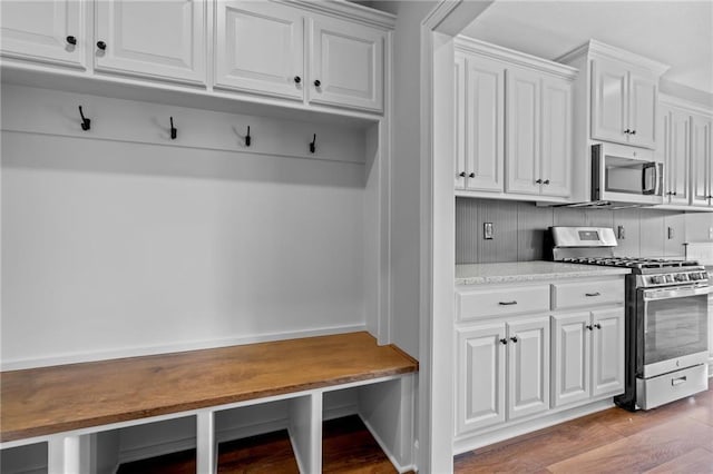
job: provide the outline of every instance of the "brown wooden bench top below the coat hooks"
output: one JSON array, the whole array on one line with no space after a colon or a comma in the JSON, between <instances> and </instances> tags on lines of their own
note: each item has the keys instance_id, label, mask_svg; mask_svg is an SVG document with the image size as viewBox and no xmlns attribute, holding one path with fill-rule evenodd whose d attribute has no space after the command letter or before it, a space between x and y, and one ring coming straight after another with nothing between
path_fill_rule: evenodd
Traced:
<instances>
[{"instance_id":1,"label":"brown wooden bench top below the coat hooks","mask_svg":"<svg viewBox=\"0 0 713 474\"><path fill-rule=\"evenodd\" d=\"M0 441L418 371L349 333L0 373Z\"/></svg>"}]
</instances>

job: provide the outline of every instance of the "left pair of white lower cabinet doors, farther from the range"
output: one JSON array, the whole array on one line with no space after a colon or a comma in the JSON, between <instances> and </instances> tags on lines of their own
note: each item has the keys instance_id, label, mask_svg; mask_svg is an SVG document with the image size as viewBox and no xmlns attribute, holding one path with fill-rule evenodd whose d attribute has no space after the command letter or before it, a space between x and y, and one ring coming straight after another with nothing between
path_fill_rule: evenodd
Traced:
<instances>
[{"instance_id":1,"label":"left pair of white lower cabinet doors, farther from the range","mask_svg":"<svg viewBox=\"0 0 713 474\"><path fill-rule=\"evenodd\" d=\"M458 329L457 433L549 408L549 317Z\"/></svg>"}]
</instances>

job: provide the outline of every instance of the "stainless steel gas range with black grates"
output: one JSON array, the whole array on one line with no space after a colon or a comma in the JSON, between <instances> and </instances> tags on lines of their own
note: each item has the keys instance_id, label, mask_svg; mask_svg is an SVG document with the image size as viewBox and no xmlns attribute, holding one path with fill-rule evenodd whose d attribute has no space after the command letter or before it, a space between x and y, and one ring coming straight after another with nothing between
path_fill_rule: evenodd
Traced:
<instances>
[{"instance_id":1,"label":"stainless steel gas range with black grates","mask_svg":"<svg viewBox=\"0 0 713 474\"><path fill-rule=\"evenodd\" d=\"M626 392L617 405L649 409L707 389L705 267L670 258L615 257L608 227L550 227L556 261L631 268L626 276Z\"/></svg>"}]
</instances>

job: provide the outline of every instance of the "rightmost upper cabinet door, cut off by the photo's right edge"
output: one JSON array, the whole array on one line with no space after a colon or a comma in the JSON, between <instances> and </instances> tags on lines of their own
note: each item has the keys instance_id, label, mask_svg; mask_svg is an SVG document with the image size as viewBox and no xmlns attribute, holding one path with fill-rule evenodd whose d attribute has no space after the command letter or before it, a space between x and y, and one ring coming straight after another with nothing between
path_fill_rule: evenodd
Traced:
<instances>
[{"instance_id":1,"label":"rightmost upper cabinet door, cut off by the photo's right edge","mask_svg":"<svg viewBox=\"0 0 713 474\"><path fill-rule=\"evenodd\" d=\"M691 204L695 206L713 205L711 125L711 117L691 117Z\"/></svg>"}]
</instances>

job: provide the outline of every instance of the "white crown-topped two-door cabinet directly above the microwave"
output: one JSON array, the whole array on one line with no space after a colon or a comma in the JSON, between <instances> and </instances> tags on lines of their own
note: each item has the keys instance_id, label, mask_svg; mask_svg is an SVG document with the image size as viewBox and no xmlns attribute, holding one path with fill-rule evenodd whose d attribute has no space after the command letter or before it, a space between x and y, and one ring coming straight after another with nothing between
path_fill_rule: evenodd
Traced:
<instances>
[{"instance_id":1,"label":"white crown-topped two-door cabinet directly above the microwave","mask_svg":"<svg viewBox=\"0 0 713 474\"><path fill-rule=\"evenodd\" d=\"M656 148L658 78L668 66L596 40L557 61L582 70L575 108L590 125L588 140Z\"/></svg>"}]
</instances>

